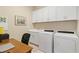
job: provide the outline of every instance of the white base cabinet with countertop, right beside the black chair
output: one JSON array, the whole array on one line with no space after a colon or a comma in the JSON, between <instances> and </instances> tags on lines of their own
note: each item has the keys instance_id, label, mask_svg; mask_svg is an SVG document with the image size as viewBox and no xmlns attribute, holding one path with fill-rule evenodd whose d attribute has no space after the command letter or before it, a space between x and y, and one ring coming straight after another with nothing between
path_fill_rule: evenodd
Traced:
<instances>
[{"instance_id":1,"label":"white base cabinet with countertop, right beside the black chair","mask_svg":"<svg viewBox=\"0 0 79 59\"><path fill-rule=\"evenodd\" d=\"M35 44L35 45L39 45L39 32L44 32L43 30L36 30L36 29L32 29L29 30L30 35L30 40L29 42Z\"/></svg>"}]
</instances>

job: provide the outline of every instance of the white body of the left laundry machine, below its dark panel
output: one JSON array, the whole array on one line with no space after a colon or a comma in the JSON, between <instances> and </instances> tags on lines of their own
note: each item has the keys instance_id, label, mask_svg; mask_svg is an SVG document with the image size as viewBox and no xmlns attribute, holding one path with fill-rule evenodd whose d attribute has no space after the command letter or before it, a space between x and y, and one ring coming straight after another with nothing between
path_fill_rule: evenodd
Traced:
<instances>
[{"instance_id":1,"label":"white body of the left laundry machine, below its dark panel","mask_svg":"<svg viewBox=\"0 0 79 59\"><path fill-rule=\"evenodd\" d=\"M39 49L46 53L54 52L54 32L40 32L39 37Z\"/></svg>"}]
</instances>

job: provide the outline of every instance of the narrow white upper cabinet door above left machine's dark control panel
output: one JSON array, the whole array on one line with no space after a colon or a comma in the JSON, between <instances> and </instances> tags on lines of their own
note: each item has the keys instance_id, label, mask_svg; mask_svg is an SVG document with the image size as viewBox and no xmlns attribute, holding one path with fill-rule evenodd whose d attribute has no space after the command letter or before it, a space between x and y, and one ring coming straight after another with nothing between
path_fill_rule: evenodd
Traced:
<instances>
[{"instance_id":1,"label":"narrow white upper cabinet door above left machine's dark control panel","mask_svg":"<svg viewBox=\"0 0 79 59\"><path fill-rule=\"evenodd\" d=\"M48 21L56 20L56 6L48 7Z\"/></svg>"}]
</instances>

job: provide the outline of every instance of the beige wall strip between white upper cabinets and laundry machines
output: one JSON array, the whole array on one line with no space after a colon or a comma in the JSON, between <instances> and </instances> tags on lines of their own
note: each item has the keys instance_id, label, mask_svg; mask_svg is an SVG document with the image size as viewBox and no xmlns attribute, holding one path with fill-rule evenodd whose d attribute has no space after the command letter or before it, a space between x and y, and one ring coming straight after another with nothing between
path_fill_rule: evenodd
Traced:
<instances>
[{"instance_id":1,"label":"beige wall strip between white upper cabinets and laundry machines","mask_svg":"<svg viewBox=\"0 0 79 59\"><path fill-rule=\"evenodd\" d=\"M66 30L66 31L77 31L77 21L59 21L49 23L35 23L33 24L36 29L52 29L54 31Z\"/></svg>"}]
</instances>

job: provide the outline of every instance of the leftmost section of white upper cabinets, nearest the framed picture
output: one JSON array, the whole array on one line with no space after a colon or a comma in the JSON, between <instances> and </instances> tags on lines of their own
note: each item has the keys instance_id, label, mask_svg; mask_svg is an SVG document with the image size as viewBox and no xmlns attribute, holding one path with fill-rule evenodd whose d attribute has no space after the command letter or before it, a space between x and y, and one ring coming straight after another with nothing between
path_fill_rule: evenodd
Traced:
<instances>
[{"instance_id":1,"label":"leftmost section of white upper cabinets, nearest the framed picture","mask_svg":"<svg viewBox=\"0 0 79 59\"><path fill-rule=\"evenodd\" d=\"M32 21L33 22L45 22L48 19L48 7L44 7L33 11Z\"/></svg>"}]
</instances>

